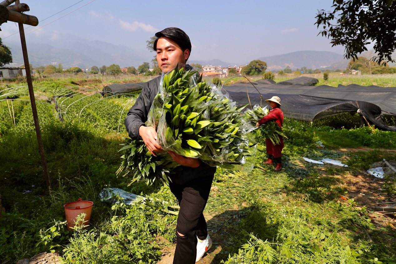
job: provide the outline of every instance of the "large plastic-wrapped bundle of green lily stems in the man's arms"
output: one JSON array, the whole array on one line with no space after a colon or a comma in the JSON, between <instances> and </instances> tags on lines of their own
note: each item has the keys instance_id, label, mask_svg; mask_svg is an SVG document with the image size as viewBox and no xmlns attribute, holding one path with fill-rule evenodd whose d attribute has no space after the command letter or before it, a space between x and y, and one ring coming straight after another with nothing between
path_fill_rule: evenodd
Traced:
<instances>
[{"instance_id":1,"label":"large plastic-wrapped bundle of green lily stems in the man's arms","mask_svg":"<svg viewBox=\"0 0 396 264\"><path fill-rule=\"evenodd\" d=\"M162 74L148 115L166 151L199 158L210 166L250 171L255 163L253 126L226 92L202 80L197 70Z\"/></svg>"}]
</instances>

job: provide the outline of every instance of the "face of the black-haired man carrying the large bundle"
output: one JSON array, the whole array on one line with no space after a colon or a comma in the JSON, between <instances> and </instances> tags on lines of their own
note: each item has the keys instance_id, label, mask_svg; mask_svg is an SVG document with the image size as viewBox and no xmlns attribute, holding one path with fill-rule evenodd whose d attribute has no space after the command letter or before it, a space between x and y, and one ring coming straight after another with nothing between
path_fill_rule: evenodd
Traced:
<instances>
[{"instance_id":1,"label":"face of the black-haired man carrying the large bundle","mask_svg":"<svg viewBox=\"0 0 396 264\"><path fill-rule=\"evenodd\" d=\"M176 42L166 37L158 39L156 52L158 67L165 73L173 70L177 63L185 64L190 55L189 50L183 52Z\"/></svg>"}]
</instances>

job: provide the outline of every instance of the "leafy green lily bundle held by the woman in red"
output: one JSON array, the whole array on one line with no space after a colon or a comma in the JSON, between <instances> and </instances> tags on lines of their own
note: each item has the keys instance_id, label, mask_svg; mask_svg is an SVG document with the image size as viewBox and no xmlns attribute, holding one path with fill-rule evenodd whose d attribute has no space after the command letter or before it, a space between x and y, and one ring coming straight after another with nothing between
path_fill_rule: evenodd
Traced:
<instances>
[{"instance_id":1,"label":"leafy green lily bundle held by the woman in red","mask_svg":"<svg viewBox=\"0 0 396 264\"><path fill-rule=\"evenodd\" d=\"M252 125L256 125L257 122L266 115L268 115L268 107L260 107L260 105L254 105L253 109L247 109L244 113L244 119L251 122ZM260 126L261 133L265 138L269 138L275 145L280 144L279 136L287 138L282 132L282 128L276 122L266 122Z\"/></svg>"}]
</instances>

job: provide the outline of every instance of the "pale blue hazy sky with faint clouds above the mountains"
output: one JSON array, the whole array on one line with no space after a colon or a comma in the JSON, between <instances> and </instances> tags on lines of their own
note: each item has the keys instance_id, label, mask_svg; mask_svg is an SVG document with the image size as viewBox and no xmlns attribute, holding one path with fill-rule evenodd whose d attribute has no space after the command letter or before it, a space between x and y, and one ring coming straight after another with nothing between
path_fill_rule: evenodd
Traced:
<instances>
[{"instance_id":1,"label":"pale blue hazy sky with faint clouds above the mountains","mask_svg":"<svg viewBox=\"0 0 396 264\"><path fill-rule=\"evenodd\" d=\"M342 46L331 47L314 25L318 10L331 10L332 0L21 2L30 7L26 13L39 20L36 27L25 25L28 44L32 38L45 42L74 34L142 50L149 61L154 54L146 49L146 41L166 27L179 27L190 36L190 60L238 62L301 50L344 52ZM4 44L20 41L15 23L0 27Z\"/></svg>"}]
</instances>

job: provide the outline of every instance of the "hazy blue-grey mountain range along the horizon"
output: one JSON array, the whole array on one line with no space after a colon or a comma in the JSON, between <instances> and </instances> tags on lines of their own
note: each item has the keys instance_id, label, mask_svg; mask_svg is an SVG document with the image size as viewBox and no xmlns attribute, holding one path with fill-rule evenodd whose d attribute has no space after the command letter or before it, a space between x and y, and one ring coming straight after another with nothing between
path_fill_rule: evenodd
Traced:
<instances>
[{"instance_id":1,"label":"hazy blue-grey mountain range along the horizon","mask_svg":"<svg viewBox=\"0 0 396 264\"><path fill-rule=\"evenodd\" d=\"M46 39L46 43L43 40ZM23 65L23 55L21 45L18 41L7 44L11 49L13 63L11 67L19 67ZM109 66L117 64L121 68L134 66L138 67L143 62L150 62L150 58L154 53L147 49L134 48L126 45L114 45L109 42L99 40L85 40L71 34L62 34L61 36L32 36L27 42L29 62L33 67L41 65L58 65L62 64L63 69L70 67L80 67L89 69L95 65ZM149 58L149 59L147 59ZM257 59L267 63L267 70L278 71L289 66L292 70L301 67L308 69L345 69L349 60L344 59L343 55L326 51L297 51L282 55L274 55L267 57L257 57ZM240 66L247 65L250 61L242 61L242 63L221 61L219 59L212 60L194 60L191 63L199 63L201 65L222 65Z\"/></svg>"}]
</instances>

